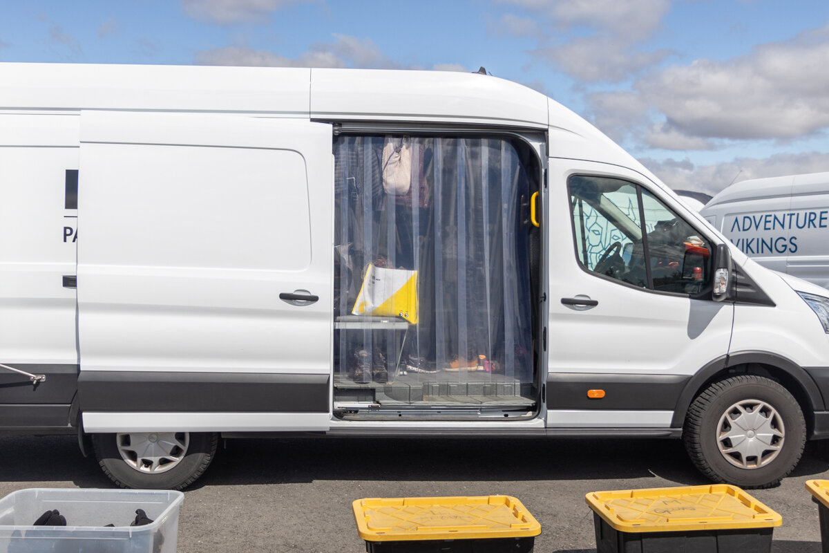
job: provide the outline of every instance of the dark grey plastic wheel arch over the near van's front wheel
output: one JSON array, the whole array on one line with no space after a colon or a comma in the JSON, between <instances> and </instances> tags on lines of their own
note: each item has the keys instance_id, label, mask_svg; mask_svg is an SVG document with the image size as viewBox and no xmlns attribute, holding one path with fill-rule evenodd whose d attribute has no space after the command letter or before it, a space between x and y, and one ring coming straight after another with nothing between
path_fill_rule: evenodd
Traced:
<instances>
[{"instance_id":1,"label":"dark grey plastic wheel arch over the near van's front wheel","mask_svg":"<svg viewBox=\"0 0 829 553\"><path fill-rule=\"evenodd\" d=\"M737 352L718 357L702 367L681 391L676 401L671 427L682 428L691 402L711 382L734 374L767 376L778 381L797 400L803 412L803 418L806 420L807 436L812 435L814 429L812 415L815 411L825 409L823 396L817 383L797 363L769 352Z\"/></svg>"}]
</instances>

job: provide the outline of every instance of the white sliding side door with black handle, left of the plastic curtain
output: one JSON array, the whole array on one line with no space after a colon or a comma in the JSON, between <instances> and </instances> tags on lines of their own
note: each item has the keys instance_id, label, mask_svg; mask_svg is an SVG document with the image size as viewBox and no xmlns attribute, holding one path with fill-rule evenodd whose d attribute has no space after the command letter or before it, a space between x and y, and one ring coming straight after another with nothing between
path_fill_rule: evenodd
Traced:
<instances>
[{"instance_id":1,"label":"white sliding side door with black handle, left of the plastic curtain","mask_svg":"<svg viewBox=\"0 0 829 553\"><path fill-rule=\"evenodd\" d=\"M326 429L331 126L85 112L80 128L85 429Z\"/></svg>"}]
</instances>

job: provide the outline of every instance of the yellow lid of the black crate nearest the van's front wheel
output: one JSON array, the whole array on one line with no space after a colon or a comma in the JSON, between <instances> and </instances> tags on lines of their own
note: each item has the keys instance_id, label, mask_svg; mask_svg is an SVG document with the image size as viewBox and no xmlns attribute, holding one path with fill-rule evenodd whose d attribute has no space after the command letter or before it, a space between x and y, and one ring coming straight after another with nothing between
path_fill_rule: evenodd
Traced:
<instances>
[{"instance_id":1,"label":"yellow lid of the black crate nearest the van's front wheel","mask_svg":"<svg viewBox=\"0 0 829 553\"><path fill-rule=\"evenodd\" d=\"M618 531L767 528L783 518L736 486L714 484L590 492L587 504Z\"/></svg>"}]
</instances>

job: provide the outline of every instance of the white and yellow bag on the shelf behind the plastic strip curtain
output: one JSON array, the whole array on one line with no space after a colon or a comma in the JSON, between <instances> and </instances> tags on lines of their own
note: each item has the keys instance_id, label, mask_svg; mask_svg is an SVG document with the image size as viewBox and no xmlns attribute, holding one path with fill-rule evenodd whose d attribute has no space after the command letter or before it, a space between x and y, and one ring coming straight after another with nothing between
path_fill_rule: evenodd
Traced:
<instances>
[{"instance_id":1,"label":"white and yellow bag on the shelf behind the plastic strip curtain","mask_svg":"<svg viewBox=\"0 0 829 553\"><path fill-rule=\"evenodd\" d=\"M417 271L369 264L352 315L400 317L417 324Z\"/></svg>"}]
</instances>

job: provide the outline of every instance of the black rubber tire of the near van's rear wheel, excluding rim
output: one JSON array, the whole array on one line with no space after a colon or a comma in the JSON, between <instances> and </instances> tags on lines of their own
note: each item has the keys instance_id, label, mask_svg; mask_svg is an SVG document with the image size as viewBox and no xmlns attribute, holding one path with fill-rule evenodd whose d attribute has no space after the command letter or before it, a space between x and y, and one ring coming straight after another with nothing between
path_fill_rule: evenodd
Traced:
<instances>
[{"instance_id":1,"label":"black rubber tire of the near van's rear wheel, excluding rim","mask_svg":"<svg viewBox=\"0 0 829 553\"><path fill-rule=\"evenodd\" d=\"M179 433L187 436L187 433ZM216 455L218 434L189 433L186 449L179 449L181 460L160 473L144 473L133 468L119 452L118 437L122 434L93 434L92 444L98 464L110 480L120 488L181 490L194 483L205 472Z\"/></svg>"}]
</instances>

